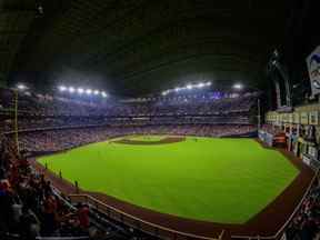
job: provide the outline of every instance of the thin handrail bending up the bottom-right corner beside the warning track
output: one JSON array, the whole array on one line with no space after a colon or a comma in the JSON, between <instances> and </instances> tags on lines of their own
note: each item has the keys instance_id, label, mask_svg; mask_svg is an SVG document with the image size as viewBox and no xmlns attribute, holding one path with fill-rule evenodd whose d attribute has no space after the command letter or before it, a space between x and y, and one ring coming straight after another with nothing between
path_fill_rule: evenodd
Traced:
<instances>
[{"instance_id":1,"label":"thin handrail bending up the bottom-right corner beside the warning track","mask_svg":"<svg viewBox=\"0 0 320 240\"><path fill-rule=\"evenodd\" d=\"M261 237L261 236L231 236L231 239L278 239L279 236L283 232L283 230L287 228L287 226L291 222L291 220L293 219L293 217L296 216L296 213L298 212L298 210L301 208L303 201L306 200L307 196L310 193L310 189L316 180L316 178L318 177L320 170L318 169L316 174L313 176L312 180L310 181L302 199L300 200L300 202L298 203L298 206L296 207L296 209L293 210L293 212L290 214L289 219L282 224L282 227L276 232L276 234L273 236L267 236L267 237Z\"/></svg>"}]
</instances>

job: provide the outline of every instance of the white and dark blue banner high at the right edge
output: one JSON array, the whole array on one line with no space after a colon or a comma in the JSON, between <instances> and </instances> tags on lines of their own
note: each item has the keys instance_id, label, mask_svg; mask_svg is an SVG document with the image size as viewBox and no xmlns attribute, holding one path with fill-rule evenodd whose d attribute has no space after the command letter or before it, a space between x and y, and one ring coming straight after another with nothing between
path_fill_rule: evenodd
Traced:
<instances>
[{"instance_id":1,"label":"white and dark blue banner high at the right edge","mask_svg":"<svg viewBox=\"0 0 320 240\"><path fill-rule=\"evenodd\" d=\"M312 96L320 93L320 46L307 58Z\"/></svg>"}]
</instances>

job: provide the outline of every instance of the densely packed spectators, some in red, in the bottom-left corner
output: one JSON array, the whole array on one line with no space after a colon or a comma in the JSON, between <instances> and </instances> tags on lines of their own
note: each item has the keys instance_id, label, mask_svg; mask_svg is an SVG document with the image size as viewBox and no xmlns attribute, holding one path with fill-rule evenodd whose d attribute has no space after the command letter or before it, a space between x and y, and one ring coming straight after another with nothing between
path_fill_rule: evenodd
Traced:
<instances>
[{"instance_id":1,"label":"densely packed spectators, some in red, in the bottom-left corner","mask_svg":"<svg viewBox=\"0 0 320 240\"><path fill-rule=\"evenodd\" d=\"M76 211L54 194L51 182L18 157L14 144L2 138L0 149L0 239L19 236L89 236L88 207Z\"/></svg>"}]
</instances>

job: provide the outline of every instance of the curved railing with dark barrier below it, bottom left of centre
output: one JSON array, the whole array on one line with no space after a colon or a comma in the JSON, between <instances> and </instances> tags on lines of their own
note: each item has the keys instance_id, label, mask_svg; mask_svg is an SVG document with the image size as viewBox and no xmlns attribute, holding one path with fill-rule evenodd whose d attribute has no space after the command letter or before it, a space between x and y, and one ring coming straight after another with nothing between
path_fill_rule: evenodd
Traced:
<instances>
[{"instance_id":1,"label":"curved railing with dark barrier below it, bottom left of centre","mask_svg":"<svg viewBox=\"0 0 320 240\"><path fill-rule=\"evenodd\" d=\"M198 236L193 233L177 231L167 227L162 227L138 217L126 213L112 206L109 206L91 196L88 194L70 194L69 198L72 202L87 202L94 207L98 211L107 214L108 218L114 219L128 227L138 229L140 231L147 232L151 236L163 238L163 239L174 239L174 240L222 240L224 230L221 231L218 238L209 238L204 236Z\"/></svg>"}]
</instances>

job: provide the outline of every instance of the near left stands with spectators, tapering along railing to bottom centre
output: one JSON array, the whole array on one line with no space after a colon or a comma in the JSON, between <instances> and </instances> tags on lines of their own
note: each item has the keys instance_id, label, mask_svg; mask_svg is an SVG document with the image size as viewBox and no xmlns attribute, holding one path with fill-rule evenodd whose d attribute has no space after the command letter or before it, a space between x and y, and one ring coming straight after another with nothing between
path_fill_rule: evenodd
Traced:
<instances>
[{"instance_id":1,"label":"near left stands with spectators, tapering along railing to bottom centre","mask_svg":"<svg viewBox=\"0 0 320 240\"><path fill-rule=\"evenodd\" d=\"M72 206L24 154L17 153L11 138L0 134L0 239L158 239L113 221L94 207Z\"/></svg>"}]
</instances>

